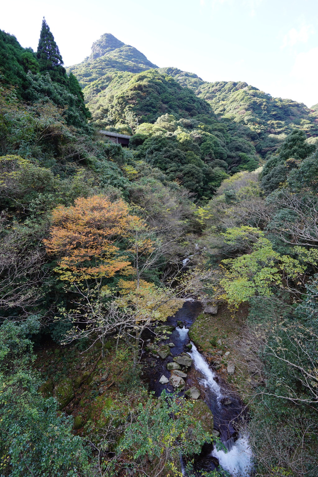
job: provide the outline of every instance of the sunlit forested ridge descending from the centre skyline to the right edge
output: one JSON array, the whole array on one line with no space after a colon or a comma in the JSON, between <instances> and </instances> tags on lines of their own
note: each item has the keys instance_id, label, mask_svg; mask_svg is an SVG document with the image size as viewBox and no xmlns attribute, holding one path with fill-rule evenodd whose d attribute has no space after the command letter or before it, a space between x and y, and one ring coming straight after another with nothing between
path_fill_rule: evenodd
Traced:
<instances>
[{"instance_id":1,"label":"sunlit forested ridge descending from the centre skyline to the right edge","mask_svg":"<svg viewBox=\"0 0 318 477\"><path fill-rule=\"evenodd\" d=\"M290 99L273 98L245 82L203 81L194 73L177 68L159 68L178 83L205 99L215 114L229 118L238 125L248 126L256 150L262 156L275 151L293 128L305 131L307 136L318 135L318 114L305 104Z\"/></svg>"}]
</instances>

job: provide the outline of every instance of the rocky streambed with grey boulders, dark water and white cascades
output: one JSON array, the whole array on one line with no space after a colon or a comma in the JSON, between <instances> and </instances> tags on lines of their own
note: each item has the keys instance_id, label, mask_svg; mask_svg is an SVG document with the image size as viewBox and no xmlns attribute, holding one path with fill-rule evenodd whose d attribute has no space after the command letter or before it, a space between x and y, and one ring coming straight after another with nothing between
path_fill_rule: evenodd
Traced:
<instances>
[{"instance_id":1,"label":"rocky streambed with grey boulders, dark water and white cascades","mask_svg":"<svg viewBox=\"0 0 318 477\"><path fill-rule=\"evenodd\" d=\"M203 470L223 468L233 477L248 477L252 469L248 436L236 429L246 418L245 406L189 339L189 328L200 311L198 302L188 301L162 329L157 328L157 333L170 332L166 339L158 341L154 333L145 337L143 378L157 397L165 389L193 399L193 412L205 430L219 436L227 448L225 452L213 444L203 446L195 458L198 476Z\"/></svg>"}]
</instances>

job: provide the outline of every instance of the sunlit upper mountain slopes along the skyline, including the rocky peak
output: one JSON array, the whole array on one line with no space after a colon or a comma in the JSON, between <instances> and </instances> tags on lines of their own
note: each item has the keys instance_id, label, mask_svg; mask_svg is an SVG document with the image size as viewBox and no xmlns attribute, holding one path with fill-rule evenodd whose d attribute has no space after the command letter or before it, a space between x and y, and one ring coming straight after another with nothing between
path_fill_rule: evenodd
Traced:
<instances>
[{"instance_id":1,"label":"sunlit upper mountain slopes along the skyline, including the rocky peak","mask_svg":"<svg viewBox=\"0 0 318 477\"><path fill-rule=\"evenodd\" d=\"M157 72L135 78L136 73L151 68ZM85 101L100 125L124 122L134 130L137 123L154 122L161 114L176 114L177 119L202 114L203 103L199 110L193 98L190 106L185 104L185 95L189 103L191 91L209 104L231 135L251 142L264 158L275 152L294 128L305 131L308 138L318 135L315 108L273 98L244 82L209 83L177 68L158 69L141 52L109 33L93 43L88 58L68 71L83 87ZM207 111L206 106L204 109Z\"/></svg>"}]
</instances>

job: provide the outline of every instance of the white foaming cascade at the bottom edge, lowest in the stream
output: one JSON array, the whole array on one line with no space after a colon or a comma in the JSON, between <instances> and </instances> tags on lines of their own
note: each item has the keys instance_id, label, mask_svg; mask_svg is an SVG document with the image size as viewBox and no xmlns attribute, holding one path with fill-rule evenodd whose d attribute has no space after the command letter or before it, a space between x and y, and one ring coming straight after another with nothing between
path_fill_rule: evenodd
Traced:
<instances>
[{"instance_id":1,"label":"white foaming cascade at the bottom edge, lowest in the stream","mask_svg":"<svg viewBox=\"0 0 318 477\"><path fill-rule=\"evenodd\" d=\"M240 436L227 453L214 447L211 456L217 457L220 466L232 477L248 477L253 467L248 436Z\"/></svg>"}]
</instances>

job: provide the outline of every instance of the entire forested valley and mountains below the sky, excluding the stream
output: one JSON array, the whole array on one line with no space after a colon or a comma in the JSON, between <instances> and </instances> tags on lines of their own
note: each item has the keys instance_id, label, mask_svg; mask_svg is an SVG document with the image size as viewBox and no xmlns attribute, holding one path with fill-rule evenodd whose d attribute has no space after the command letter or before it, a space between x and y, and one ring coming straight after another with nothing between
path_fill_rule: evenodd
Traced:
<instances>
[{"instance_id":1,"label":"entire forested valley and mountains below the sky, excluding the stream","mask_svg":"<svg viewBox=\"0 0 318 477\"><path fill-rule=\"evenodd\" d=\"M317 476L317 121L109 33L65 68L45 19L36 52L0 31L1 476ZM239 474L198 464L226 447L165 325L189 300Z\"/></svg>"}]
</instances>

